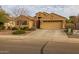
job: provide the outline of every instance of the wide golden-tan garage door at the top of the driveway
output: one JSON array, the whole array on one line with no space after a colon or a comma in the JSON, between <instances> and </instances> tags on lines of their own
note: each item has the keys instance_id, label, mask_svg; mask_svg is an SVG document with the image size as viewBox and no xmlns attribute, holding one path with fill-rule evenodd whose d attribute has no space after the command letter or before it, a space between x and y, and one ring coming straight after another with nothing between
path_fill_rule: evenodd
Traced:
<instances>
[{"instance_id":1,"label":"wide golden-tan garage door at the top of the driveway","mask_svg":"<svg viewBox=\"0 0 79 59\"><path fill-rule=\"evenodd\" d=\"M42 29L61 29L62 28L62 22L61 21L42 22L40 24L40 28L42 28Z\"/></svg>"}]
</instances>

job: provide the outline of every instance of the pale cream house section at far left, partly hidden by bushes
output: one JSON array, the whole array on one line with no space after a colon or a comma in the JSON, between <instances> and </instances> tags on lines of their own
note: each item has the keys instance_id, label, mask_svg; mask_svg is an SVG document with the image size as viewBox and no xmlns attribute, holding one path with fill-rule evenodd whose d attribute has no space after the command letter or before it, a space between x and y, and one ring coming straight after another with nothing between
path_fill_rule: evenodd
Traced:
<instances>
[{"instance_id":1,"label":"pale cream house section at far left, partly hidden by bushes","mask_svg":"<svg viewBox=\"0 0 79 59\"><path fill-rule=\"evenodd\" d=\"M16 23L13 17L9 17L7 16L7 22L4 23L5 29L12 29L13 27L15 27Z\"/></svg>"}]
</instances>

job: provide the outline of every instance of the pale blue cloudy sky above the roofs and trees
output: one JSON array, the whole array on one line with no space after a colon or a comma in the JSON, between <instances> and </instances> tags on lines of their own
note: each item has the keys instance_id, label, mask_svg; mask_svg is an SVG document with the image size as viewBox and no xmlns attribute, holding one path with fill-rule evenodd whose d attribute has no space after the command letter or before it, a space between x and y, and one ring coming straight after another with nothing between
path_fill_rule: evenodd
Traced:
<instances>
[{"instance_id":1,"label":"pale blue cloudy sky above the roofs and trees","mask_svg":"<svg viewBox=\"0 0 79 59\"><path fill-rule=\"evenodd\" d=\"M30 16L35 16L35 13L40 11L56 13L64 17L79 14L79 5L2 5L2 8L11 15L13 15L12 10L18 7L25 8Z\"/></svg>"}]
</instances>

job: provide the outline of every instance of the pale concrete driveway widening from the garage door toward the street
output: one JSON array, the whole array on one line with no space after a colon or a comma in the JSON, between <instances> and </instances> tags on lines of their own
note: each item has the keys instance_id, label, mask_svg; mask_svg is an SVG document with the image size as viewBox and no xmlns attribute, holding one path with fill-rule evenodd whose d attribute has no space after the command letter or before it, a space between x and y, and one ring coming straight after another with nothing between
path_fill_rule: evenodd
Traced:
<instances>
[{"instance_id":1,"label":"pale concrete driveway widening from the garage door toward the street","mask_svg":"<svg viewBox=\"0 0 79 59\"><path fill-rule=\"evenodd\" d=\"M67 38L67 35L63 30L36 30L26 36L33 39L42 40L53 40L54 38Z\"/></svg>"}]
</instances>

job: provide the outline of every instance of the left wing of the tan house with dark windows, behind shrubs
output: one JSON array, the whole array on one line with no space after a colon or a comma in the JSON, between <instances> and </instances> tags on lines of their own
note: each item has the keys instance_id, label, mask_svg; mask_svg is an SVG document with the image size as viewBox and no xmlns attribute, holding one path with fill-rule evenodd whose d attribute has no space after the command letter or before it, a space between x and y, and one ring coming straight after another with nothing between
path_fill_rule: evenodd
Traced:
<instances>
[{"instance_id":1,"label":"left wing of the tan house with dark windows, behind shrubs","mask_svg":"<svg viewBox=\"0 0 79 59\"><path fill-rule=\"evenodd\" d=\"M34 26L34 19L30 16L20 15L16 17L16 27L28 27L31 29Z\"/></svg>"}]
</instances>

